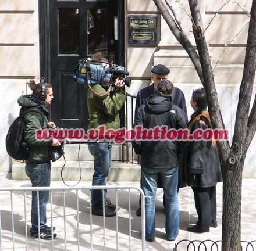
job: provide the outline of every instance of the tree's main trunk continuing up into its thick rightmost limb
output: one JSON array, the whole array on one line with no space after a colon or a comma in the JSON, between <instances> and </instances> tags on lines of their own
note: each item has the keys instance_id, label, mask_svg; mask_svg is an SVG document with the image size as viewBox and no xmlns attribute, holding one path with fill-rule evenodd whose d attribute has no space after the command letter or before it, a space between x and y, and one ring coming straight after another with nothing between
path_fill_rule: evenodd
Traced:
<instances>
[{"instance_id":1,"label":"tree's main trunk continuing up into its thick rightmost limb","mask_svg":"<svg viewBox=\"0 0 256 251\"><path fill-rule=\"evenodd\" d=\"M251 7L243 80L240 86L232 149L223 168L222 250L241 250L241 187L246 152L255 134L255 100L250 116L250 101L256 69L256 0Z\"/></svg>"}]
</instances>

